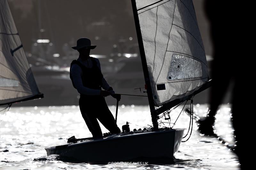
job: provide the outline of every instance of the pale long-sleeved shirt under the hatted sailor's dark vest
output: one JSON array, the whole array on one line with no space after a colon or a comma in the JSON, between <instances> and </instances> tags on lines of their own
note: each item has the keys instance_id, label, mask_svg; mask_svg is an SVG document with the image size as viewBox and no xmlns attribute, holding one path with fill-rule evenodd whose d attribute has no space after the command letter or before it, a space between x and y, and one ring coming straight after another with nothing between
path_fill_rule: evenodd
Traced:
<instances>
[{"instance_id":1,"label":"pale long-sleeved shirt under the hatted sailor's dark vest","mask_svg":"<svg viewBox=\"0 0 256 170\"><path fill-rule=\"evenodd\" d=\"M97 62L97 66L99 67L99 69L101 71L99 59L95 58L95 60ZM78 57L77 61L80 62L81 64L83 64L87 68L92 68L92 66L93 66L93 63L92 63L92 61L90 61L90 59L87 60L88 62L87 61L84 62L84 61L82 61L82 59L80 57ZM80 94L100 95L100 90L84 87L82 78L81 78L83 72L79 65L73 64L70 71L71 71L71 75L73 78L73 82L76 86L76 89ZM102 86L101 87L104 90L108 90L110 87L104 77L102 77ZM109 92L115 93L113 90L111 90Z\"/></svg>"}]
</instances>

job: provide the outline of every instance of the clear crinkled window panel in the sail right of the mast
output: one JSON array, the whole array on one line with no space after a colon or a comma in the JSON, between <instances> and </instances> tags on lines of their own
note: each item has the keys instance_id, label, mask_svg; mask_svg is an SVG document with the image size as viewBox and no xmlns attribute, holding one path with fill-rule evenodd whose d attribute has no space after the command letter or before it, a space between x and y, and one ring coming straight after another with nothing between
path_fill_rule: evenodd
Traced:
<instances>
[{"instance_id":1,"label":"clear crinkled window panel in the sail right of the mast","mask_svg":"<svg viewBox=\"0 0 256 170\"><path fill-rule=\"evenodd\" d=\"M201 62L184 55L172 54L168 80L182 80L202 77Z\"/></svg>"}]
</instances>

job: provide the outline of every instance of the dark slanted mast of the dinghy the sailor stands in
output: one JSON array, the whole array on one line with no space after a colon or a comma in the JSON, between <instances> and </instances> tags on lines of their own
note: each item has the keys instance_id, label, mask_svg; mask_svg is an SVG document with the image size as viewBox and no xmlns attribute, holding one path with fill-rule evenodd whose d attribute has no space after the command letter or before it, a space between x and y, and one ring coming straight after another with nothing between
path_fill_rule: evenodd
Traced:
<instances>
[{"instance_id":1,"label":"dark slanted mast of the dinghy the sailor stands in","mask_svg":"<svg viewBox=\"0 0 256 170\"><path fill-rule=\"evenodd\" d=\"M135 22L135 26L136 26L138 44L139 44L139 48L140 48L140 58L141 58L141 63L142 63L142 69L143 69L143 73L144 73L145 84L147 86L150 114L151 114L151 118L152 118L153 128L156 130L156 129L158 129L158 123L157 123L156 115L154 114L155 106L154 106L154 100L153 100L153 95L152 95L152 90L151 90L151 85L150 85L150 80L149 80L148 66L147 66L147 60L146 60L144 46L143 46L143 40L142 40L142 36L141 36L141 32L140 32L139 16L138 16L135 0L131 0L131 1L132 1L132 11L133 11L133 17L134 17L134 22Z\"/></svg>"}]
</instances>

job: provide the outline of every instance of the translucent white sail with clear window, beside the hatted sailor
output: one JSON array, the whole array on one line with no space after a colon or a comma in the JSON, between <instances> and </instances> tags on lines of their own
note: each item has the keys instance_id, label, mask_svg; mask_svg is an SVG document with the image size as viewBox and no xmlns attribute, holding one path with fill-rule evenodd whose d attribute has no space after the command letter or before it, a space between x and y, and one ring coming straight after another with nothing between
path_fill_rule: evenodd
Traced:
<instances>
[{"instance_id":1,"label":"translucent white sail with clear window, beside the hatted sailor","mask_svg":"<svg viewBox=\"0 0 256 170\"><path fill-rule=\"evenodd\" d=\"M155 106L181 99L208 80L192 0L136 0Z\"/></svg>"}]
</instances>

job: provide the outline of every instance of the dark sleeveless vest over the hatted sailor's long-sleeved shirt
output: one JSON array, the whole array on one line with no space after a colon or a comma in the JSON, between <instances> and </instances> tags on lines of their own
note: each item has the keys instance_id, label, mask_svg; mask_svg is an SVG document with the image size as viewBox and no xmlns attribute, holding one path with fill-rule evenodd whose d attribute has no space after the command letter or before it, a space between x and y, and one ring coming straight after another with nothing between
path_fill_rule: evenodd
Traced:
<instances>
[{"instance_id":1,"label":"dark sleeveless vest over the hatted sailor's long-sleeved shirt","mask_svg":"<svg viewBox=\"0 0 256 170\"><path fill-rule=\"evenodd\" d=\"M96 60L93 57L90 57L90 59L92 60L92 68L85 67L82 63L80 63L77 60L73 60L72 63L70 64L69 76L70 76L70 79L72 81L74 88L76 88L76 86L73 82L73 78L71 75L71 67L73 64L77 64L82 69L81 78L82 78L84 87L88 87L90 89L101 90L103 75L100 71L100 68L97 66ZM89 96L89 95L84 95L84 94L80 94L80 95Z\"/></svg>"}]
</instances>

